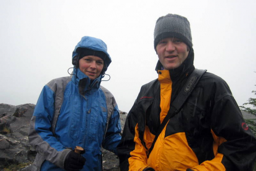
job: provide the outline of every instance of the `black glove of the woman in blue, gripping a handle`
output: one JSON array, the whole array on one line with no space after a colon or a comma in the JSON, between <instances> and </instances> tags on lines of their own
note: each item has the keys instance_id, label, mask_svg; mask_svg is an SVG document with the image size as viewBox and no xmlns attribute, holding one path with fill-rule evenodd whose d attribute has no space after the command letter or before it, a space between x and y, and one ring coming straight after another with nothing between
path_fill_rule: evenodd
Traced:
<instances>
[{"instance_id":1,"label":"black glove of the woman in blue, gripping a handle","mask_svg":"<svg viewBox=\"0 0 256 171\"><path fill-rule=\"evenodd\" d=\"M75 153L74 151L70 151L65 159L64 168L67 171L79 171L79 169L82 169L85 163L86 158L82 157L78 153Z\"/></svg>"}]
</instances>

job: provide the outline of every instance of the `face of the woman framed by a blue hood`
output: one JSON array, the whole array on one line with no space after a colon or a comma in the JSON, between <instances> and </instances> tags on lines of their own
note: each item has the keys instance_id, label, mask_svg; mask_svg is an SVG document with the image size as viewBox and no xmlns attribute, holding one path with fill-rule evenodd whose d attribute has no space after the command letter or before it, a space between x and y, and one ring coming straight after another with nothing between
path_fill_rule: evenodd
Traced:
<instances>
[{"instance_id":1,"label":"face of the woman framed by a blue hood","mask_svg":"<svg viewBox=\"0 0 256 171\"><path fill-rule=\"evenodd\" d=\"M98 56L84 56L79 60L79 69L92 80L100 75L103 65L104 61Z\"/></svg>"}]
</instances>

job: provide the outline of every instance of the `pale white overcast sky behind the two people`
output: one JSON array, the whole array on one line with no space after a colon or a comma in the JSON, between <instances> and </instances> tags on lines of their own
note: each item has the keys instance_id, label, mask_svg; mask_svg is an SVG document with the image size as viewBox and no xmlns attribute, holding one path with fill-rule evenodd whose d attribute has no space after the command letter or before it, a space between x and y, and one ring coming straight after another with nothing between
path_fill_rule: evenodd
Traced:
<instances>
[{"instance_id":1,"label":"pale white overcast sky behind the two people","mask_svg":"<svg viewBox=\"0 0 256 171\"><path fill-rule=\"evenodd\" d=\"M129 112L140 87L157 78L156 20L187 17L194 65L222 77L239 105L255 90L256 1L0 0L0 103L36 104L50 80L68 76L82 36L102 39L112 63L101 85ZM107 77L107 76L106 76Z\"/></svg>"}]
</instances>

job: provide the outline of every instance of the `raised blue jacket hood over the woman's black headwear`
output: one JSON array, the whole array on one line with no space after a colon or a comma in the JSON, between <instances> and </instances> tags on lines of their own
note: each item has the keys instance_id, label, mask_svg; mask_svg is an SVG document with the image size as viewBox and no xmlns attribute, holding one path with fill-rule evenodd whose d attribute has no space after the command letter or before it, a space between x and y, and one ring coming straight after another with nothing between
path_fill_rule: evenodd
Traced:
<instances>
[{"instance_id":1,"label":"raised blue jacket hood over the woman's black headwear","mask_svg":"<svg viewBox=\"0 0 256 171\"><path fill-rule=\"evenodd\" d=\"M72 63L74 66L76 66L76 64L78 63L79 53L83 49L89 49L100 53L103 52L106 55L106 58L104 60L104 62L106 63L106 68L109 67L112 60L108 53L108 48L106 44L101 39L90 36L83 36L76 45L72 54Z\"/></svg>"}]
</instances>

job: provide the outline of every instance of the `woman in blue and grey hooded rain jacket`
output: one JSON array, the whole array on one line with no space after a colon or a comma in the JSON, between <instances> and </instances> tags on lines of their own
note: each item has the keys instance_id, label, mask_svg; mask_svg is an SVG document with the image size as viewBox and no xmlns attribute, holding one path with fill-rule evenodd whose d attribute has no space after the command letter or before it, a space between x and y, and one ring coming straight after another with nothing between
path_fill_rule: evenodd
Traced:
<instances>
[{"instance_id":1,"label":"woman in blue and grey hooded rain jacket","mask_svg":"<svg viewBox=\"0 0 256 171\"><path fill-rule=\"evenodd\" d=\"M111 63L106 44L84 36L72 55L73 73L42 89L30 122L29 142L37 152L32 170L102 170L101 146L117 154L119 110L100 86ZM81 146L84 151L75 153Z\"/></svg>"}]
</instances>

